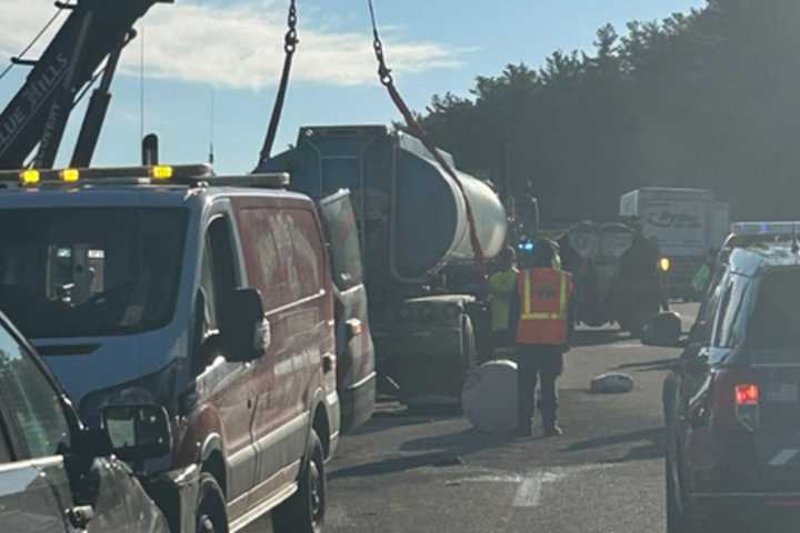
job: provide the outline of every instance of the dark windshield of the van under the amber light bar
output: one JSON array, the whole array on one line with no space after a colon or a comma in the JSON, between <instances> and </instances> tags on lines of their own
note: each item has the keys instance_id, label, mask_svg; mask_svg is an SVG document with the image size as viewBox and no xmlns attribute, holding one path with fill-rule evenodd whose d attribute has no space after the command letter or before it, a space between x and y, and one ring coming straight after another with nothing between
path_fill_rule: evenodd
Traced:
<instances>
[{"instance_id":1,"label":"dark windshield of the van under the amber light bar","mask_svg":"<svg viewBox=\"0 0 800 533\"><path fill-rule=\"evenodd\" d=\"M0 309L34 339L163 326L186 225L182 209L0 211Z\"/></svg>"}]
</instances>

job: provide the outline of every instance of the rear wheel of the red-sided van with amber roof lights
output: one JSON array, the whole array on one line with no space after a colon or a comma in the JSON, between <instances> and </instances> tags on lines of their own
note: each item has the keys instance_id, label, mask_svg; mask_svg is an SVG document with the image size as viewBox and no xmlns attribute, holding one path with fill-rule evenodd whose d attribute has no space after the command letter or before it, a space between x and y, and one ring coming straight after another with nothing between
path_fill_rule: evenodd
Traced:
<instances>
[{"instance_id":1,"label":"rear wheel of the red-sided van with amber roof lights","mask_svg":"<svg viewBox=\"0 0 800 533\"><path fill-rule=\"evenodd\" d=\"M328 481L324 470L324 450L314 430L311 430L311 442L299 485L298 492L276 510L276 531L279 533L321 533L324 525Z\"/></svg>"}]
</instances>

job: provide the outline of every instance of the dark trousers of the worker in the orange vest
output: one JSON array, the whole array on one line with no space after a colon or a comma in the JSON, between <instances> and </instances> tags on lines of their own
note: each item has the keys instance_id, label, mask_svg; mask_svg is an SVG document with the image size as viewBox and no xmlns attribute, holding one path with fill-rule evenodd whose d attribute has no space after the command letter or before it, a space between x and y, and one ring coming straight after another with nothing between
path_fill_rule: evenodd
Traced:
<instances>
[{"instance_id":1,"label":"dark trousers of the worker in the orange vest","mask_svg":"<svg viewBox=\"0 0 800 533\"><path fill-rule=\"evenodd\" d=\"M541 380L541 403L544 425L557 421L558 392L556 380L563 372L563 346L521 344L517 348L517 386L519 426L530 426L536 411L536 388Z\"/></svg>"}]
</instances>

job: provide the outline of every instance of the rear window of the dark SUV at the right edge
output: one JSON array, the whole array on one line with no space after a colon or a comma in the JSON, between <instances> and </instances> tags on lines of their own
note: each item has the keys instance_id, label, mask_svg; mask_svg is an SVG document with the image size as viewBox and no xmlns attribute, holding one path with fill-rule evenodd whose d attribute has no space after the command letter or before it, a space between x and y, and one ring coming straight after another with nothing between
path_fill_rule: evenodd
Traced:
<instances>
[{"instance_id":1,"label":"rear window of the dark SUV at the right edge","mask_svg":"<svg viewBox=\"0 0 800 533\"><path fill-rule=\"evenodd\" d=\"M797 352L800 349L799 303L800 269L768 273L759 288L750 321L750 345L763 351ZM768 352L761 352L760 359L767 356Z\"/></svg>"}]
</instances>

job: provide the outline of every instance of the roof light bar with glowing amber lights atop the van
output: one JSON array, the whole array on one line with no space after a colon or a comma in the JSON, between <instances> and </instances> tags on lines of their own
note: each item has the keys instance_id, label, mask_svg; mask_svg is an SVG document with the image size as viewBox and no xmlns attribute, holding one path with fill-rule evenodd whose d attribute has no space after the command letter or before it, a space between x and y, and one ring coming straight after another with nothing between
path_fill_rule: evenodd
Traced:
<instances>
[{"instance_id":1,"label":"roof light bar with glowing amber lights atop the van","mask_svg":"<svg viewBox=\"0 0 800 533\"><path fill-rule=\"evenodd\" d=\"M36 189L43 185L130 184L286 189L289 183L290 178L287 173L217 175L209 164L0 171L0 187L2 188Z\"/></svg>"}]
</instances>

